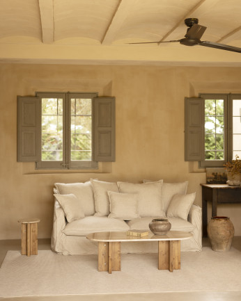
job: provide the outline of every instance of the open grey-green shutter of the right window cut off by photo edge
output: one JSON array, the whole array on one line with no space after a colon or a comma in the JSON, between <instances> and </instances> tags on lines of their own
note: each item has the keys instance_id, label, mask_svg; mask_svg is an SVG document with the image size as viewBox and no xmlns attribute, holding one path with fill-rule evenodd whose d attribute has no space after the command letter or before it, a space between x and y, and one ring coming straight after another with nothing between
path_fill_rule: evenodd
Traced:
<instances>
[{"instance_id":1,"label":"open grey-green shutter of the right window cut off by photo edge","mask_svg":"<svg viewBox=\"0 0 241 301\"><path fill-rule=\"evenodd\" d=\"M185 97L185 161L204 160L204 100Z\"/></svg>"}]
</instances>

